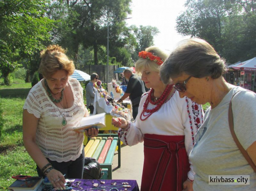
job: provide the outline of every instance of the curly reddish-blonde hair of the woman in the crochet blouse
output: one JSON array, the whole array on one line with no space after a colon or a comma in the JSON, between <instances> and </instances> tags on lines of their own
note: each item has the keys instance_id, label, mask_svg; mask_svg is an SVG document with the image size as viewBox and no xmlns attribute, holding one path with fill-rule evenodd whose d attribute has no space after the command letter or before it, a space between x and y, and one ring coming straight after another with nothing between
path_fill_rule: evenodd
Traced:
<instances>
[{"instance_id":1,"label":"curly reddish-blonde hair of the woman in the crochet blouse","mask_svg":"<svg viewBox=\"0 0 256 191\"><path fill-rule=\"evenodd\" d=\"M49 45L40 52L41 63L39 72L49 79L57 70L66 70L68 75L72 75L75 65L65 54L67 50L59 45Z\"/></svg>"}]
</instances>

